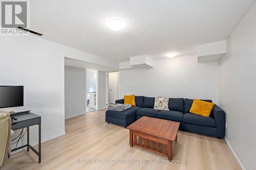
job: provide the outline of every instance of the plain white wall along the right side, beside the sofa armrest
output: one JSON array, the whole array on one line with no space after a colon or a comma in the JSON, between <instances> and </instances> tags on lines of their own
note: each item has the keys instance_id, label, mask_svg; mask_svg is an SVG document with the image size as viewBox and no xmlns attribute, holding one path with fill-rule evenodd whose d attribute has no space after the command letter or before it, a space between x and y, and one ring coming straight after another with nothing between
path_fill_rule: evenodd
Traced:
<instances>
[{"instance_id":1,"label":"plain white wall along the right side, beside the sofa armrest","mask_svg":"<svg viewBox=\"0 0 256 170\"><path fill-rule=\"evenodd\" d=\"M256 4L227 40L220 61L220 106L226 112L226 137L248 170L256 169Z\"/></svg>"}]
</instances>

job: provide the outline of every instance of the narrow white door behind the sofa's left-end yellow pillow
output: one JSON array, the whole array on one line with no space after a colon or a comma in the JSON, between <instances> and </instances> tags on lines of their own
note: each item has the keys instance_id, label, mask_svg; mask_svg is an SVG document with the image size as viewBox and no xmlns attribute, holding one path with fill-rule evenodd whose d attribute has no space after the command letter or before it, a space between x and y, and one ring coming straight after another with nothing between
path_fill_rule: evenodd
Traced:
<instances>
[{"instance_id":1,"label":"narrow white door behind the sofa's left-end yellow pillow","mask_svg":"<svg viewBox=\"0 0 256 170\"><path fill-rule=\"evenodd\" d=\"M118 100L118 72L109 72L109 103Z\"/></svg>"}]
</instances>

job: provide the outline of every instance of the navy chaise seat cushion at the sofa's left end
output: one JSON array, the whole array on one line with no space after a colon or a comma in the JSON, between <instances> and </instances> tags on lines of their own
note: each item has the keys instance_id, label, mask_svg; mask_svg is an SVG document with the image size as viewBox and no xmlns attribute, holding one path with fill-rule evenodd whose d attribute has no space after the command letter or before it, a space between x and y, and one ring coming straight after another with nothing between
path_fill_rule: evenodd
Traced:
<instances>
[{"instance_id":1,"label":"navy chaise seat cushion at the sofa's left end","mask_svg":"<svg viewBox=\"0 0 256 170\"><path fill-rule=\"evenodd\" d=\"M139 106L133 106L127 110L124 111L114 111L114 110L107 110L106 116L120 118L120 119L127 119L129 117L132 117L133 115L136 115L136 111L142 107Z\"/></svg>"}]
</instances>

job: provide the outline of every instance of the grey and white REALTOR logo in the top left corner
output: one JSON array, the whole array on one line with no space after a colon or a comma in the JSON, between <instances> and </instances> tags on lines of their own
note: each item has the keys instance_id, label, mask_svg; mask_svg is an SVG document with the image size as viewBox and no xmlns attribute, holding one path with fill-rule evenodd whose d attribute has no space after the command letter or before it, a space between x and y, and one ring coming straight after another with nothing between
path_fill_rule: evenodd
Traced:
<instances>
[{"instance_id":1,"label":"grey and white REALTOR logo in the top left corner","mask_svg":"<svg viewBox=\"0 0 256 170\"><path fill-rule=\"evenodd\" d=\"M17 28L28 28L28 1L1 1L1 34L26 34Z\"/></svg>"}]
</instances>

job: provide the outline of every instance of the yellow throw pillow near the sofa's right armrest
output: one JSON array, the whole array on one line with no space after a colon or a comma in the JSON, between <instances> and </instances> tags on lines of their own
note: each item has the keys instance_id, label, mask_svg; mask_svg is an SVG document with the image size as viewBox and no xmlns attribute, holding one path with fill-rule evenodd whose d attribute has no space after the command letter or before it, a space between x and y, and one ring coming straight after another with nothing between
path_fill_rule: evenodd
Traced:
<instances>
[{"instance_id":1,"label":"yellow throw pillow near the sofa's right armrest","mask_svg":"<svg viewBox=\"0 0 256 170\"><path fill-rule=\"evenodd\" d=\"M189 112L209 117L212 107L214 107L214 103L194 99Z\"/></svg>"}]
</instances>

